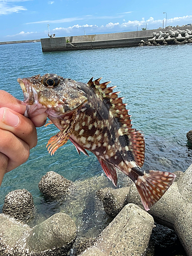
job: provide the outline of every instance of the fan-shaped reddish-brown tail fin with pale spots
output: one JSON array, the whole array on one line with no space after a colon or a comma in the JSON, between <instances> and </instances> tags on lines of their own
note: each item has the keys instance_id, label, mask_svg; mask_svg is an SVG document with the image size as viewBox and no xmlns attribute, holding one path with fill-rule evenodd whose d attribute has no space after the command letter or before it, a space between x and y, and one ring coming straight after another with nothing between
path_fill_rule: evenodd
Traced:
<instances>
[{"instance_id":1,"label":"fan-shaped reddish-brown tail fin with pale spots","mask_svg":"<svg viewBox=\"0 0 192 256\"><path fill-rule=\"evenodd\" d=\"M141 202L145 210L150 208L163 196L175 180L176 175L159 170L150 170L135 180Z\"/></svg>"}]
</instances>

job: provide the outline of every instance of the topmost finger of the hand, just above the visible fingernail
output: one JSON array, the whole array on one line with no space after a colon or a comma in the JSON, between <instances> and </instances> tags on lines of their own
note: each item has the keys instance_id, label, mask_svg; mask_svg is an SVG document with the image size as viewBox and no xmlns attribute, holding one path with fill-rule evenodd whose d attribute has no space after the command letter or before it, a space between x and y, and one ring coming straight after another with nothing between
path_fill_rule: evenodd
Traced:
<instances>
[{"instance_id":1,"label":"topmost finger of the hand, just above the visible fingernail","mask_svg":"<svg viewBox=\"0 0 192 256\"><path fill-rule=\"evenodd\" d=\"M26 104L13 97L10 93L0 90L0 108L9 108L15 112L24 115L26 111Z\"/></svg>"}]
</instances>

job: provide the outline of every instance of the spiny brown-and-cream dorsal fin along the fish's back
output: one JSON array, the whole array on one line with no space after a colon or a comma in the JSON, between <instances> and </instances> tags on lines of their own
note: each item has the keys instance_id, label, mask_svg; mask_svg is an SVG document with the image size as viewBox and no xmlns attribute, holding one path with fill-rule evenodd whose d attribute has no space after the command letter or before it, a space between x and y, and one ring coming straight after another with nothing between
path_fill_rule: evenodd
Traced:
<instances>
[{"instance_id":1,"label":"spiny brown-and-cream dorsal fin along the fish's back","mask_svg":"<svg viewBox=\"0 0 192 256\"><path fill-rule=\"evenodd\" d=\"M93 77L87 85L98 94L101 100L108 106L112 115L120 124L120 134L127 135L129 138L128 147L134 155L134 161L141 167L144 163L145 143L142 132L132 128L131 115L126 109L126 104L123 103L123 98L118 97L120 92L113 92L116 87L107 87L109 82L100 83L101 78L93 81Z\"/></svg>"}]
</instances>

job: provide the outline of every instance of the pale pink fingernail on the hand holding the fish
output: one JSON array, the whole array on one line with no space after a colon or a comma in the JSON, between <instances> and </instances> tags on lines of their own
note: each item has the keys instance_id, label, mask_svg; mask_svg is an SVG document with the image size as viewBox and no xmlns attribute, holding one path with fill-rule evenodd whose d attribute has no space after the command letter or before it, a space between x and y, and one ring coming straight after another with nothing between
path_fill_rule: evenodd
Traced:
<instances>
[{"instance_id":1,"label":"pale pink fingernail on the hand holding the fish","mask_svg":"<svg viewBox=\"0 0 192 256\"><path fill-rule=\"evenodd\" d=\"M15 127L19 123L19 117L13 114L11 111L5 108L0 109L0 120L12 127Z\"/></svg>"}]
</instances>

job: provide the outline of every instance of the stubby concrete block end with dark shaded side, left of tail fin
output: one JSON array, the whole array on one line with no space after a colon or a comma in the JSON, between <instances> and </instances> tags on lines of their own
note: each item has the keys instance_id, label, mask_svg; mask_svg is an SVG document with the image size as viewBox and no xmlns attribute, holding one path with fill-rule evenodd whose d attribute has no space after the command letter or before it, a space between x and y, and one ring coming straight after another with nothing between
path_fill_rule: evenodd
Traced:
<instances>
[{"instance_id":1,"label":"stubby concrete block end with dark shaded side, left of tail fin","mask_svg":"<svg viewBox=\"0 0 192 256\"><path fill-rule=\"evenodd\" d=\"M102 201L104 210L108 216L114 218L127 204L127 195L129 194L130 187L122 187L113 189L105 187L97 190L96 195Z\"/></svg>"}]
</instances>

